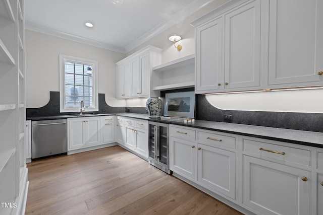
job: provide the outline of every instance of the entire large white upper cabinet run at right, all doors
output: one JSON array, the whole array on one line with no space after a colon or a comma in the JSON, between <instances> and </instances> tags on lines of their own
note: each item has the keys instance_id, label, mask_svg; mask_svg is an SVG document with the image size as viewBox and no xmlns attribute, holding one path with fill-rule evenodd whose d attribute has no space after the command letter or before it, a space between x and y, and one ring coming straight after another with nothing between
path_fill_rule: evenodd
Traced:
<instances>
[{"instance_id":1,"label":"entire large white upper cabinet run at right, all doors","mask_svg":"<svg viewBox=\"0 0 323 215\"><path fill-rule=\"evenodd\" d=\"M195 92L323 85L322 0L229 1L196 28Z\"/></svg>"}]
</instances>

